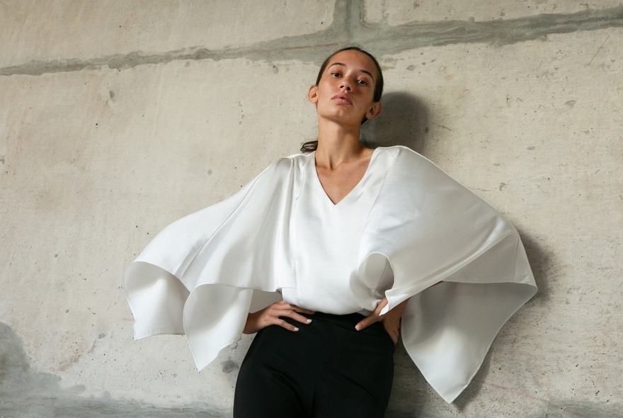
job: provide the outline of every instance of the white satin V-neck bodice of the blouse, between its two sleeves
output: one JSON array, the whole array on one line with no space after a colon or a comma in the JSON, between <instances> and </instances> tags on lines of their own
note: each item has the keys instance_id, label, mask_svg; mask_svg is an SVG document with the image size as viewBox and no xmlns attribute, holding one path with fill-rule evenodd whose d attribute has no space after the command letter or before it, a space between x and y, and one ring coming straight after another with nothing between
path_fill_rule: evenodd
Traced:
<instances>
[{"instance_id":1,"label":"white satin V-neck bodice of the blouse, between its two sleeves","mask_svg":"<svg viewBox=\"0 0 623 418\"><path fill-rule=\"evenodd\" d=\"M370 315L394 276L387 264L377 283L362 281L358 244L394 154L377 148L362 179L337 204L318 179L315 153L305 157L294 211L296 287L282 288L283 300L318 312Z\"/></svg>"}]
</instances>

